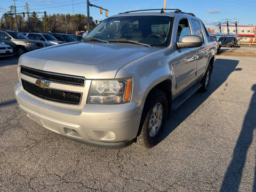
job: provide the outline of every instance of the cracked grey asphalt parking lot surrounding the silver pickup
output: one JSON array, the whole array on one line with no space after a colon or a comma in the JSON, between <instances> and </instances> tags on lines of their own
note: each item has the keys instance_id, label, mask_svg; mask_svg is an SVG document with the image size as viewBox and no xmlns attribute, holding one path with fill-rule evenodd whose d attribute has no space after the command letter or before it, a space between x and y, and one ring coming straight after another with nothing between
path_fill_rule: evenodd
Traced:
<instances>
[{"instance_id":1,"label":"cracked grey asphalt parking lot surrounding the silver pickup","mask_svg":"<svg viewBox=\"0 0 256 192\"><path fill-rule=\"evenodd\" d=\"M0 191L256 191L256 58L217 56L210 90L167 121L162 142L100 149L31 121L0 59Z\"/></svg>"}]
</instances>

